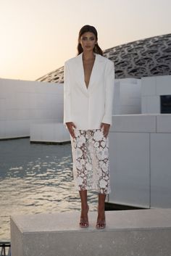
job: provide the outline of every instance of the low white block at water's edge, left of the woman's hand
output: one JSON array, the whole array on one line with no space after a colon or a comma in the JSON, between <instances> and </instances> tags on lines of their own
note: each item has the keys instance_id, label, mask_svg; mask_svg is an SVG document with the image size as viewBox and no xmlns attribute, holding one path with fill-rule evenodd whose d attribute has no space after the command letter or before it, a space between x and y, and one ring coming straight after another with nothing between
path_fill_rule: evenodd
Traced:
<instances>
[{"instance_id":1,"label":"low white block at water's edge, left of the woman's hand","mask_svg":"<svg viewBox=\"0 0 171 256\"><path fill-rule=\"evenodd\" d=\"M70 141L70 133L63 123L33 123L30 141L61 143Z\"/></svg>"}]
</instances>

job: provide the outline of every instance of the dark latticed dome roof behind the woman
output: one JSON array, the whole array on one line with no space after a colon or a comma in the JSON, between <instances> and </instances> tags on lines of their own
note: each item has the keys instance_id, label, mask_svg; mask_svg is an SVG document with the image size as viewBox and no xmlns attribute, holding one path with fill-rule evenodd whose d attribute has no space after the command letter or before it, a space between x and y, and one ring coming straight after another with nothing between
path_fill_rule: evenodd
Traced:
<instances>
[{"instance_id":1,"label":"dark latticed dome roof behind the woman","mask_svg":"<svg viewBox=\"0 0 171 256\"><path fill-rule=\"evenodd\" d=\"M171 75L171 34L154 36L104 50L114 62L115 78L143 78ZM64 67L51 71L38 81L64 82Z\"/></svg>"}]
</instances>

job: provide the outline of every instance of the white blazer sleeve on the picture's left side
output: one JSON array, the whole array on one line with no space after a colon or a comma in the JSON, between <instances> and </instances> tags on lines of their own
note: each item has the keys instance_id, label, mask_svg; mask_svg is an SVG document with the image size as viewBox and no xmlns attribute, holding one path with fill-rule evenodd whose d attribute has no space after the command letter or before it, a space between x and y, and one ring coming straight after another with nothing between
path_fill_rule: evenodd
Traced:
<instances>
[{"instance_id":1,"label":"white blazer sleeve on the picture's left side","mask_svg":"<svg viewBox=\"0 0 171 256\"><path fill-rule=\"evenodd\" d=\"M68 63L64 62L64 123L71 120L71 88Z\"/></svg>"}]
</instances>

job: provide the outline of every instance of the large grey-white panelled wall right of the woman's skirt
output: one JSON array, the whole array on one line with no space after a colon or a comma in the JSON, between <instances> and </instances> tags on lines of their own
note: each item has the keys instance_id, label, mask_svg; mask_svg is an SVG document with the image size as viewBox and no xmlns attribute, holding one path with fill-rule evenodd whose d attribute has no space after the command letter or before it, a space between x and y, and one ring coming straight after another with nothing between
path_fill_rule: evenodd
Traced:
<instances>
[{"instance_id":1,"label":"large grey-white panelled wall right of the woman's skirt","mask_svg":"<svg viewBox=\"0 0 171 256\"><path fill-rule=\"evenodd\" d=\"M171 207L171 115L115 115L109 132L109 202Z\"/></svg>"}]
</instances>

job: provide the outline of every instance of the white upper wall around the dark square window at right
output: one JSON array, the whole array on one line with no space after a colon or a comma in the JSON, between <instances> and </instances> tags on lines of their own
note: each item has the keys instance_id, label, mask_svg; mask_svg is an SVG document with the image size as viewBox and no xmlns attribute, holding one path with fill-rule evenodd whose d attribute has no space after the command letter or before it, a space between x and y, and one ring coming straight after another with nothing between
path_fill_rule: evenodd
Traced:
<instances>
[{"instance_id":1,"label":"white upper wall around the dark square window at right","mask_svg":"<svg viewBox=\"0 0 171 256\"><path fill-rule=\"evenodd\" d=\"M141 78L141 112L160 113L160 95L171 95L171 75Z\"/></svg>"}]
</instances>

